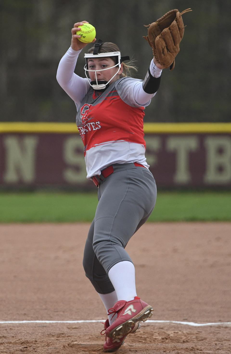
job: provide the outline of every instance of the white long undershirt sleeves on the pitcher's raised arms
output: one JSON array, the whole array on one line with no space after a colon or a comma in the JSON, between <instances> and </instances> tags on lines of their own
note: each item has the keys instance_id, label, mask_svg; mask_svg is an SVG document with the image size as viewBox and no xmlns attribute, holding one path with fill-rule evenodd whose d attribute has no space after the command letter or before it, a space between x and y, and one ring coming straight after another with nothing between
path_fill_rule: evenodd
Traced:
<instances>
[{"instance_id":1,"label":"white long undershirt sleeves on the pitcher's raised arms","mask_svg":"<svg viewBox=\"0 0 231 354\"><path fill-rule=\"evenodd\" d=\"M74 73L80 52L81 50L75 51L70 47L60 60L56 75L58 83L68 96L73 99L77 110L90 88L90 83L87 78L81 78ZM158 69L152 60L150 63L150 72L153 77L159 78L162 69ZM131 87L131 90L133 90L132 95L135 102L139 105L148 105L150 99L156 95L156 92L146 93L143 91L142 81L138 81L133 87Z\"/></svg>"}]
</instances>

